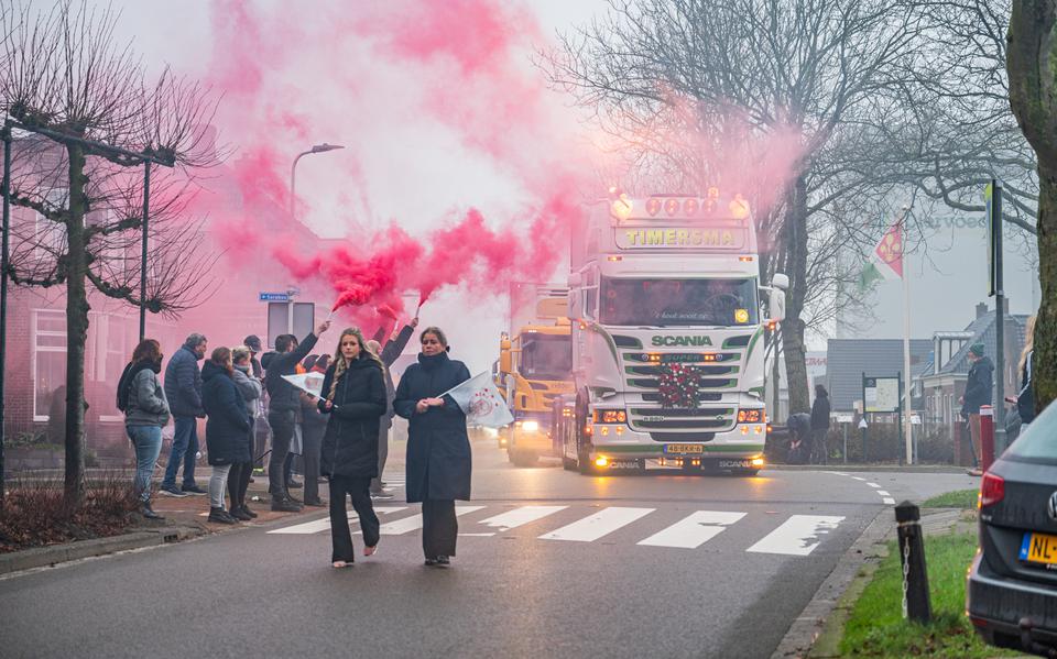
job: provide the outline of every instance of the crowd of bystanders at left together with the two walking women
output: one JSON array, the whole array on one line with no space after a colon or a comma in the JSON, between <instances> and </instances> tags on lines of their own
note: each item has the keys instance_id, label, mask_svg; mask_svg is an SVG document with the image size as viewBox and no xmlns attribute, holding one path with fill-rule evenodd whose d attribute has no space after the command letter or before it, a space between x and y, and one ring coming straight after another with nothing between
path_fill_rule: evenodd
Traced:
<instances>
[{"instance_id":1,"label":"crowd of bystanders at left together with the two walking women","mask_svg":"<svg viewBox=\"0 0 1057 659\"><path fill-rule=\"evenodd\" d=\"M329 322L320 323L303 341L292 334L277 337L275 351L262 355L260 362L260 339L250 336L243 345L214 349L200 370L197 362L205 359L208 344L206 337L194 333L170 360L164 385L160 343L153 339L140 342L121 375L117 398L135 449L134 488L143 515L160 518L151 506L151 479L162 448L162 428L172 417L173 448L161 491L172 496L208 494L210 521L235 524L257 517L247 506L246 493L254 466L254 426L266 394L272 510L324 505L318 479L325 476L330 490L331 563L346 567L353 561L346 497L352 499L359 515L364 556L371 556L380 528L372 498L389 496L381 474L389 430L393 417L400 415L408 420L406 492L408 503L423 504L426 564L448 564L458 536L455 499L470 496L471 460L466 416L450 396L442 394L469 380L469 372L461 362L448 359L444 332L431 327L419 337L418 363L408 366L400 386L394 387L389 369L416 326L417 318L384 347L377 339L364 341L357 328L346 329L333 359L309 355ZM318 398L283 377L305 371L324 374ZM206 450L213 468L208 491L194 480L199 418L206 419ZM302 444L304 503L290 492L295 440ZM177 488L181 466L184 480Z\"/></svg>"}]
</instances>

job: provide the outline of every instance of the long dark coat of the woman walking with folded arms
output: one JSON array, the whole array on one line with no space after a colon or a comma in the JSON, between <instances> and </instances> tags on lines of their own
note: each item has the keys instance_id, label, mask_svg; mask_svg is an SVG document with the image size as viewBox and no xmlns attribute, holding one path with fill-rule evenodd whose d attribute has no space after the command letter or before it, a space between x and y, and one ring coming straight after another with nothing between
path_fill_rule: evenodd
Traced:
<instances>
[{"instance_id":1,"label":"long dark coat of the woman walking with folded arms","mask_svg":"<svg viewBox=\"0 0 1057 659\"><path fill-rule=\"evenodd\" d=\"M407 366L396 387L393 407L410 421L407 427L407 503L425 499L470 498L470 440L466 415L450 396L443 407L415 411L423 398L432 398L470 378L462 362L447 353L418 355Z\"/></svg>"}]
</instances>

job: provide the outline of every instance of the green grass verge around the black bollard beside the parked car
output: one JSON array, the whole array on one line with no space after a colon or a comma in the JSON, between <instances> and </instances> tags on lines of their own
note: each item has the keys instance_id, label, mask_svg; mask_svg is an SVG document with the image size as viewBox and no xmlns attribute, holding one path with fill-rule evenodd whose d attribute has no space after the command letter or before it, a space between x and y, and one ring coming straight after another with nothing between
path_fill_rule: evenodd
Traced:
<instances>
[{"instance_id":1,"label":"green grass verge around the black bollard beside the parked car","mask_svg":"<svg viewBox=\"0 0 1057 659\"><path fill-rule=\"evenodd\" d=\"M1016 657L987 646L965 616L966 570L977 551L973 534L925 540L933 622L903 619L903 570L895 542L851 611L840 641L842 657Z\"/></svg>"}]
</instances>

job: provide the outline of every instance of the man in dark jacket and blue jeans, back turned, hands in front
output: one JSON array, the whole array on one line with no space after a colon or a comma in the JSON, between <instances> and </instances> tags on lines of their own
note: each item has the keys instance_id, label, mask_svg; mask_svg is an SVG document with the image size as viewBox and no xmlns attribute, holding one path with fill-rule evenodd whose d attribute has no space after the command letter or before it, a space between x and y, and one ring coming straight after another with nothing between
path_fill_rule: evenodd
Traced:
<instances>
[{"instance_id":1,"label":"man in dark jacket and blue jeans, back turned, hands in front","mask_svg":"<svg viewBox=\"0 0 1057 659\"><path fill-rule=\"evenodd\" d=\"M195 484L195 454L198 452L198 419L206 417L201 408L198 361L206 356L207 349L204 336L190 334L165 367L165 396L173 413L174 435L161 491L170 496L206 495L206 491ZM181 463L184 465L184 484L176 487Z\"/></svg>"}]
</instances>

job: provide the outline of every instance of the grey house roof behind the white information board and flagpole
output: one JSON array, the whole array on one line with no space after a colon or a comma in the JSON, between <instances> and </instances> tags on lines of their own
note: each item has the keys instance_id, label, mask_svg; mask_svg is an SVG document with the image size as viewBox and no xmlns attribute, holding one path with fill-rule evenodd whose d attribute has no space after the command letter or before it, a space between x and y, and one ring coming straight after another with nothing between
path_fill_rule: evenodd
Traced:
<instances>
[{"instance_id":1,"label":"grey house roof behind the white information board and flagpole","mask_svg":"<svg viewBox=\"0 0 1057 659\"><path fill-rule=\"evenodd\" d=\"M911 340L911 376L922 373L928 362L933 342ZM903 375L902 339L830 339L826 348L826 381L830 405L835 410L850 411L862 399L862 374L867 376ZM904 382L906 377L904 376Z\"/></svg>"}]
</instances>

